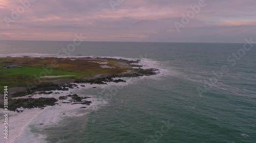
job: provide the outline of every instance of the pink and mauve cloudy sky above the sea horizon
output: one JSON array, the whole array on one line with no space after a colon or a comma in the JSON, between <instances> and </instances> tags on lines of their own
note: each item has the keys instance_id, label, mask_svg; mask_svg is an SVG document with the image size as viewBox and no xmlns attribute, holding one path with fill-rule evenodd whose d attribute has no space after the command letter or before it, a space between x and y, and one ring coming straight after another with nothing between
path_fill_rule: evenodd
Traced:
<instances>
[{"instance_id":1,"label":"pink and mauve cloudy sky above the sea horizon","mask_svg":"<svg viewBox=\"0 0 256 143\"><path fill-rule=\"evenodd\" d=\"M72 41L80 33L87 41L244 43L256 38L255 0L203 1L0 0L0 40Z\"/></svg>"}]
</instances>

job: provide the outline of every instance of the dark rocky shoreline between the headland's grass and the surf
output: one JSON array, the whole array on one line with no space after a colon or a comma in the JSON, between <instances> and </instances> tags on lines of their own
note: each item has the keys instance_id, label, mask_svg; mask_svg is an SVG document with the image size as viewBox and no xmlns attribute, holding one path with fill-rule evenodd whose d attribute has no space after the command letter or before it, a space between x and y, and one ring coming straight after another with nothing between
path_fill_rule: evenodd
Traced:
<instances>
[{"instance_id":1,"label":"dark rocky shoreline between the headland's grass and the surf","mask_svg":"<svg viewBox=\"0 0 256 143\"><path fill-rule=\"evenodd\" d=\"M88 57L87 57L88 58ZM98 58L97 59L104 59L104 60L117 60L113 58ZM88 99L90 97L80 97L76 94L74 95L67 95L67 96L60 96L59 98L32 98L34 94L52 94L53 91L55 94L61 94L62 91L68 91L69 89L79 89L78 85L76 83L90 83L90 84L108 84L108 82L126 82L123 79L120 79L121 77L139 77L139 76L151 76L158 74L158 69L142 69L141 65L134 65L135 63L139 63L139 60L137 61L128 61L123 59L118 59L119 62L126 63L125 66L130 67L137 67L133 68L132 70L118 73L118 74L100 74L95 75L93 77L84 77L79 79L73 79L73 80L65 80L62 79L61 82L59 80L54 81L47 81L42 82L39 85L37 85L35 88L32 89L24 89L19 90L17 92L14 92L11 94L12 98L15 97L23 97L27 95L29 98L19 98L19 99L9 99L9 107L8 109L11 111L17 111L22 112L22 110L17 110L17 108L23 107L23 108L41 108L44 109L45 106L53 106L58 103L56 103L58 100L67 100L68 102L62 102L65 104L84 104L84 105L90 105L92 102L87 101L84 99ZM114 79L117 78L117 79ZM119 78L119 79L118 79ZM64 82L64 83L63 83ZM81 85L81 87L85 87L85 85ZM93 87L96 88L96 87ZM15 90L15 89L14 89ZM3 108L4 105L0 104L0 108ZM86 108L86 107L81 107Z\"/></svg>"}]
</instances>

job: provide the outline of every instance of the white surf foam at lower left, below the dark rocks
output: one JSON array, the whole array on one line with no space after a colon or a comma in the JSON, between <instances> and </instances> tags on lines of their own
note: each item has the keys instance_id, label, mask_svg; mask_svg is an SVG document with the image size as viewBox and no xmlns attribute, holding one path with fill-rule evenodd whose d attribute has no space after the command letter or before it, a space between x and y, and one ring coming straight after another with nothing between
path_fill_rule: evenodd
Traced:
<instances>
[{"instance_id":1,"label":"white surf foam at lower left, below the dark rocks","mask_svg":"<svg viewBox=\"0 0 256 143\"><path fill-rule=\"evenodd\" d=\"M17 97L16 99L28 98L29 96L32 96L32 98L40 98L40 97L58 98L59 96L66 96L73 91L70 90L70 91L65 91L61 94L53 93L50 95L34 94L34 95L27 95L25 97ZM59 92L59 91L54 91L54 92ZM56 103L58 103L58 105L47 106L47 107L44 107L44 109L33 108L33 109L26 109L22 113L13 112L16 115L15 121L11 120L10 123L15 125L12 130L19 132L19 135L16 138L12 139L12 142L26 142L28 140L30 142L31 141L33 142L33 139L37 140L38 138L41 140L44 140L46 136L32 134L30 132L30 128L28 127L28 125L33 125L34 127L40 127L40 128L57 127L57 126L60 126L59 123L61 122L62 118L81 117L93 110L97 110L100 106L106 105L108 103L105 100L100 98L95 98L92 95L79 95L79 96L91 97L88 99L83 99L82 101L87 100L87 101L92 101L92 103L90 105L83 105L83 104L72 105L71 103L63 103L63 102L70 102L69 100L71 98L69 97L67 100L57 101ZM80 107L87 107L87 108L80 108ZM15 135L18 134L16 132L15 132ZM41 142L44 142L44 141L41 141Z\"/></svg>"}]
</instances>

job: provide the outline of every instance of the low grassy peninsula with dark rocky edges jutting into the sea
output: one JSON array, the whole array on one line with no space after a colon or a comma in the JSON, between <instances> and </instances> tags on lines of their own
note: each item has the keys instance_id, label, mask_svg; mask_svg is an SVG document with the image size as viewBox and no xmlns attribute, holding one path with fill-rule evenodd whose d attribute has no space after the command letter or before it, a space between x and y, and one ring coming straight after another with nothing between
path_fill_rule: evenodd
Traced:
<instances>
[{"instance_id":1,"label":"low grassy peninsula with dark rocky edges jutting into the sea","mask_svg":"<svg viewBox=\"0 0 256 143\"><path fill-rule=\"evenodd\" d=\"M33 94L61 94L69 89L79 89L78 83L108 84L126 82L122 77L151 76L158 69L142 69L140 60L114 58L33 58L7 57L0 59L0 108L3 108L3 87L9 87L9 110L22 112L17 108L41 108L56 105L58 100L68 100L67 104L90 105L90 97L64 95L59 98L33 98ZM5 69L5 66L17 68ZM81 85L83 87L85 85ZM95 87L94 87L95 88ZM29 96L30 95L30 96ZM28 96L28 98L17 98ZM83 107L86 108L86 107Z\"/></svg>"}]
</instances>

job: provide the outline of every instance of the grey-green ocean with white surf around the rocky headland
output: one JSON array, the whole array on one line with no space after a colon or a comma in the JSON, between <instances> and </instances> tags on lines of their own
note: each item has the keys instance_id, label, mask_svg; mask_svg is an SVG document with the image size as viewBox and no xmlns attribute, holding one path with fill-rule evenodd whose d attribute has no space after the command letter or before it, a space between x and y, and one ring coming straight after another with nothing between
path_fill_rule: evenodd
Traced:
<instances>
[{"instance_id":1,"label":"grey-green ocean with white surf around the rocky headland","mask_svg":"<svg viewBox=\"0 0 256 143\"><path fill-rule=\"evenodd\" d=\"M70 43L0 41L0 57L57 56ZM86 109L55 105L13 113L9 142L255 143L256 45L243 47L244 43L83 42L67 56L136 59L160 73L125 78L126 83L84 84L63 93L92 97Z\"/></svg>"}]
</instances>

